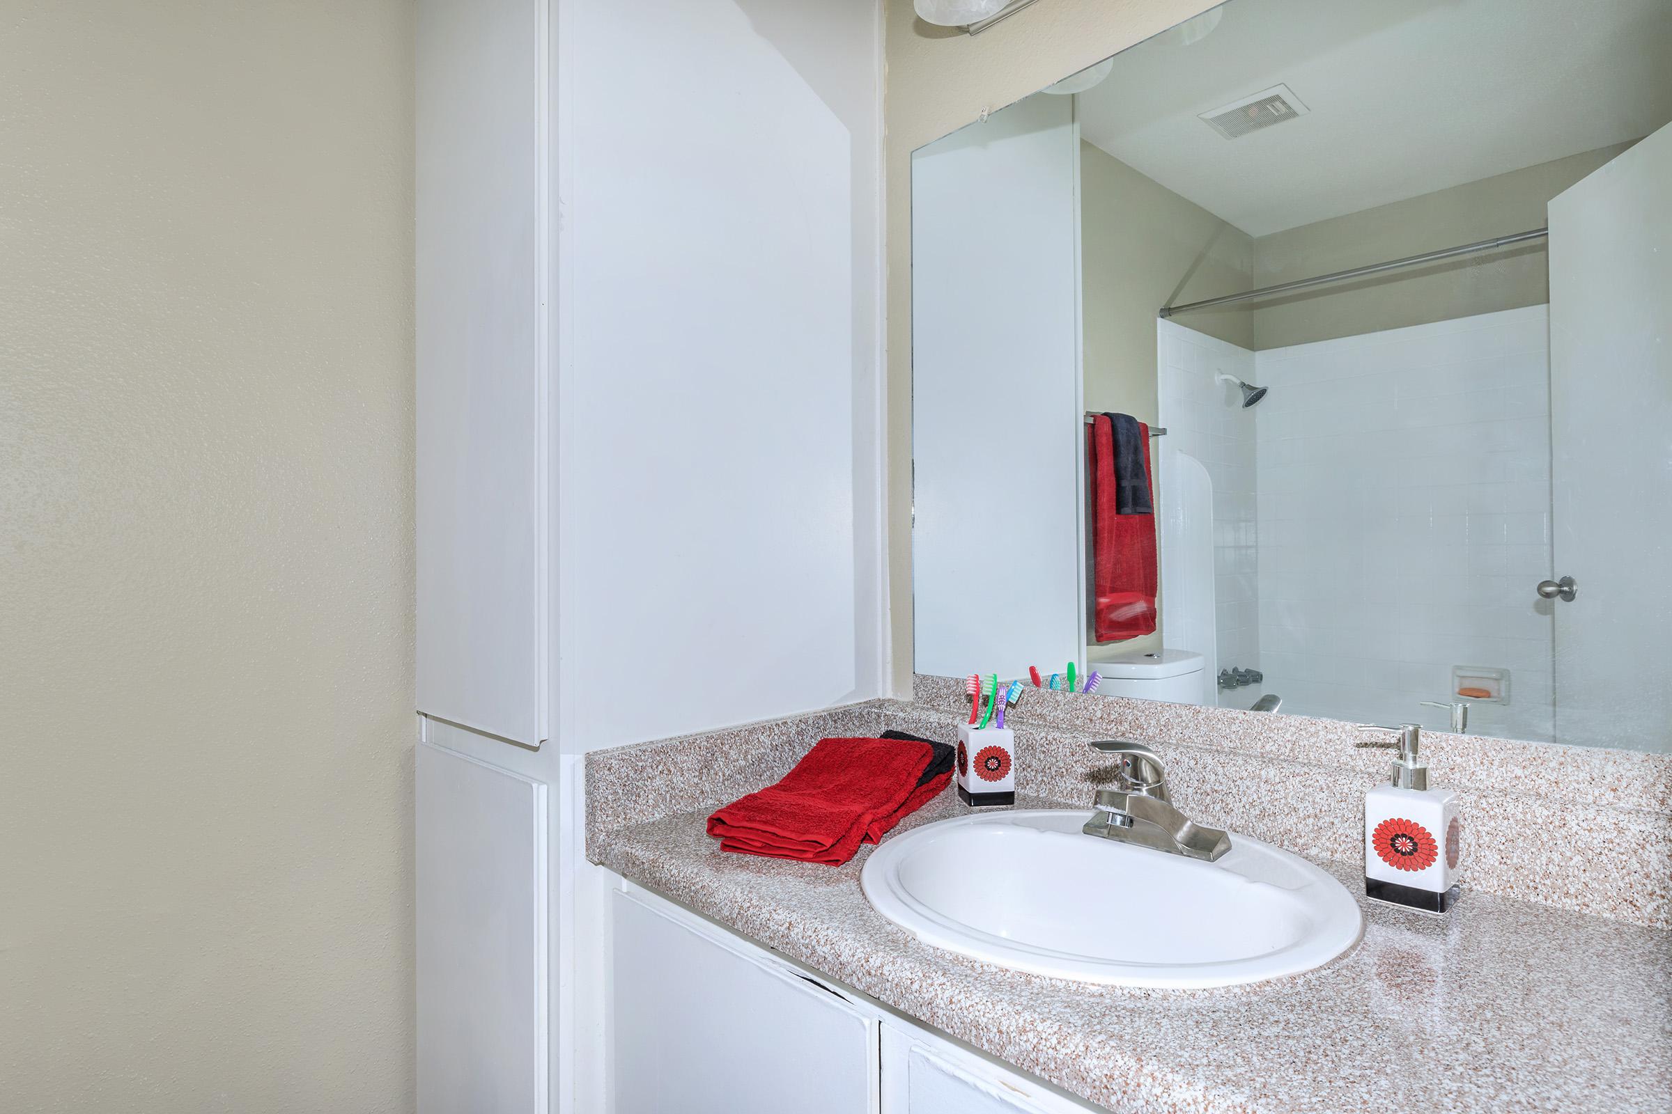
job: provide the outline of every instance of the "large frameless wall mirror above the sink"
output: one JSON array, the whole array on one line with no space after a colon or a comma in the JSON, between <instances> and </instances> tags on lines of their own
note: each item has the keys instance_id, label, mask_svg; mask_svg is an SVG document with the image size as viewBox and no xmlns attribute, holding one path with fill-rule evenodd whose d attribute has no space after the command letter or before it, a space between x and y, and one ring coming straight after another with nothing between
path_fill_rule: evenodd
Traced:
<instances>
[{"instance_id":1,"label":"large frameless wall mirror above the sink","mask_svg":"<svg viewBox=\"0 0 1672 1114\"><path fill-rule=\"evenodd\" d=\"M1231 0L915 152L916 670L1672 750L1669 120L1665 0Z\"/></svg>"}]
</instances>

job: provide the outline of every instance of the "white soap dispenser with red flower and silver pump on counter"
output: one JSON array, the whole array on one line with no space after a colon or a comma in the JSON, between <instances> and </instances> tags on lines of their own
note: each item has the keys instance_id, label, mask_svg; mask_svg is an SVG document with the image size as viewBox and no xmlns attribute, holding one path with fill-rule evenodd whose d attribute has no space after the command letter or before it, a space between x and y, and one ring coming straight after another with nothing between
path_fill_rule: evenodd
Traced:
<instances>
[{"instance_id":1,"label":"white soap dispenser with red flower and silver pump on counter","mask_svg":"<svg viewBox=\"0 0 1672 1114\"><path fill-rule=\"evenodd\" d=\"M1456 793L1428 785L1428 763L1421 758L1423 728L1401 723L1389 742L1366 747L1398 747L1393 778L1364 797L1364 894L1378 902L1404 905L1425 914L1443 914L1458 900L1458 863L1463 853L1463 823Z\"/></svg>"}]
</instances>

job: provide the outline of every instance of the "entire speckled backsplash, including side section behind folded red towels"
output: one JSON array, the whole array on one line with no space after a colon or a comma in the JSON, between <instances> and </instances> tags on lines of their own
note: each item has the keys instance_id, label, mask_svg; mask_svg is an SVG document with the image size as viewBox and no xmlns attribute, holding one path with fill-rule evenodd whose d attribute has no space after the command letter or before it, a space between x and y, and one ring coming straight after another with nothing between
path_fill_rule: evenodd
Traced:
<instances>
[{"instance_id":1,"label":"entire speckled backsplash, including side section behind folded red towels","mask_svg":"<svg viewBox=\"0 0 1672 1114\"><path fill-rule=\"evenodd\" d=\"M675 812L712 810L781 778L824 737L908 730L953 742L968 696L956 678L874 700L587 755L589 843ZM1358 863L1364 792L1386 750L1349 723L1030 688L1015 728L1017 792L1090 808L1109 763L1093 738L1154 747L1190 818ZM1435 782L1461 798L1461 882L1575 912L1672 929L1672 755L1430 733Z\"/></svg>"}]
</instances>

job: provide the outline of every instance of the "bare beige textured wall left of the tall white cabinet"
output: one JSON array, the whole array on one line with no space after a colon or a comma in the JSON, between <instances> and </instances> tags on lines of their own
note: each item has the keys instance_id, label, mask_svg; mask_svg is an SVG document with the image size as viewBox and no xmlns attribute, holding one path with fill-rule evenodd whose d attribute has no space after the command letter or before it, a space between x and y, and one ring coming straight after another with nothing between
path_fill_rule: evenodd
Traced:
<instances>
[{"instance_id":1,"label":"bare beige textured wall left of the tall white cabinet","mask_svg":"<svg viewBox=\"0 0 1672 1114\"><path fill-rule=\"evenodd\" d=\"M0 1107L408 1111L408 0L0 3Z\"/></svg>"}]
</instances>

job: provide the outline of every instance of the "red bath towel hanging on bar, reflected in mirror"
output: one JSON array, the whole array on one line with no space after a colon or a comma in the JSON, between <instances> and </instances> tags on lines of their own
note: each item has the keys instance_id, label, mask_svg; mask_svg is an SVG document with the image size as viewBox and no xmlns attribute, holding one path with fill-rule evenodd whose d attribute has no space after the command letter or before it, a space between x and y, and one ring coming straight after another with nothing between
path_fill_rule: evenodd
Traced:
<instances>
[{"instance_id":1,"label":"red bath towel hanging on bar, reflected in mirror","mask_svg":"<svg viewBox=\"0 0 1672 1114\"><path fill-rule=\"evenodd\" d=\"M1144 483L1150 483L1149 426L1139 423ZM1117 641L1155 633L1155 516L1117 511L1115 424L1097 414L1085 433L1092 488L1092 638Z\"/></svg>"}]
</instances>

